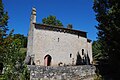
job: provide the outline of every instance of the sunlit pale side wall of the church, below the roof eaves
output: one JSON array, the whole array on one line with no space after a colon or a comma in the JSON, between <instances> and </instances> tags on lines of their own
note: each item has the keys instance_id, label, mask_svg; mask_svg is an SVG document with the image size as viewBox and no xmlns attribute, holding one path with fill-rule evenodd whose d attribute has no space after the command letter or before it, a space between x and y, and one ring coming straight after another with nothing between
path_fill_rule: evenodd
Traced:
<instances>
[{"instance_id":1,"label":"sunlit pale side wall of the church, below the roof eaves","mask_svg":"<svg viewBox=\"0 0 120 80\"><path fill-rule=\"evenodd\" d=\"M87 39L84 37L40 29L34 29L33 44L37 65L44 65L44 57L47 54L52 58L51 66L57 66L60 62L66 65L76 64L77 54L79 53L82 58L82 49L86 54L88 48Z\"/></svg>"}]
</instances>

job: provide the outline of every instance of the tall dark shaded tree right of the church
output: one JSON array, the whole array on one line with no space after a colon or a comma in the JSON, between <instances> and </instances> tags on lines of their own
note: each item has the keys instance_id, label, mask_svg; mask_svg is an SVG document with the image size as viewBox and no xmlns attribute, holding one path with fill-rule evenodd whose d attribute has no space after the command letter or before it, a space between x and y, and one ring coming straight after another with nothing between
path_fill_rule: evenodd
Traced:
<instances>
[{"instance_id":1,"label":"tall dark shaded tree right of the church","mask_svg":"<svg viewBox=\"0 0 120 80\"><path fill-rule=\"evenodd\" d=\"M118 37L120 35L120 1L94 0L93 9L98 21L96 28L98 40L104 51L102 54L108 57L107 62L111 66L109 71L118 77L120 73L120 37Z\"/></svg>"}]
</instances>

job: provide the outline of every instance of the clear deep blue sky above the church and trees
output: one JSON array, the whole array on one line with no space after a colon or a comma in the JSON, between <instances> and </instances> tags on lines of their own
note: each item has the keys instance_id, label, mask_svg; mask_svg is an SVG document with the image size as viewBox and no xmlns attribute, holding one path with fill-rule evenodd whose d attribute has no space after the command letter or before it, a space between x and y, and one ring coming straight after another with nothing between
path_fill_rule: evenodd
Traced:
<instances>
[{"instance_id":1,"label":"clear deep blue sky above the church and trees","mask_svg":"<svg viewBox=\"0 0 120 80\"><path fill-rule=\"evenodd\" d=\"M92 41L96 40L95 13L92 9L93 0L3 0L4 9L8 12L8 27L15 34L27 36L30 26L32 7L37 10L37 23L54 15L64 27L72 24L73 29L87 32Z\"/></svg>"}]
</instances>

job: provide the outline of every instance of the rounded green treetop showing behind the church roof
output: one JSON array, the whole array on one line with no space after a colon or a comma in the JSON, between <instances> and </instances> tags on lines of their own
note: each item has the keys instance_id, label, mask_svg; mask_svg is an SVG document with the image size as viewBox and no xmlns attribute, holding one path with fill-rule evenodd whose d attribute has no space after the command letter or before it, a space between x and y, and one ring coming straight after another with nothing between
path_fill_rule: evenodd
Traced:
<instances>
[{"instance_id":1,"label":"rounded green treetop showing behind the church roof","mask_svg":"<svg viewBox=\"0 0 120 80\"><path fill-rule=\"evenodd\" d=\"M57 27L63 26L62 22L60 20L56 19L56 17L52 16L52 15L48 16L47 18L43 18L42 23L57 26Z\"/></svg>"}]
</instances>

